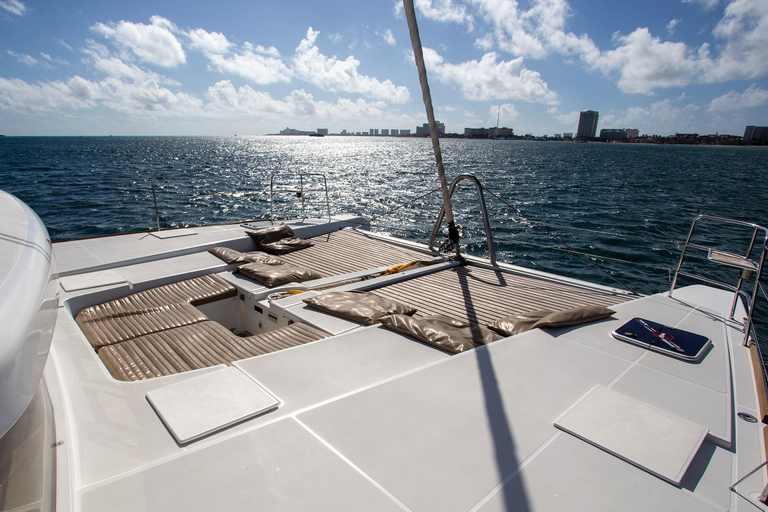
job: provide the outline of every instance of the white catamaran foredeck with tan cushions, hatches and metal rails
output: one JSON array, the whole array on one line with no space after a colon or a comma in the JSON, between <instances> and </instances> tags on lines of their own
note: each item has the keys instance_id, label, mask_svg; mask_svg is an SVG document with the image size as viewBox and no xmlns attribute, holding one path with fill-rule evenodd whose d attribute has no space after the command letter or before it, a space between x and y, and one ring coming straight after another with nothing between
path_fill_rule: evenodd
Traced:
<instances>
[{"instance_id":1,"label":"white catamaran foredeck with tan cushions, hatches and metal rails","mask_svg":"<svg viewBox=\"0 0 768 512\"><path fill-rule=\"evenodd\" d=\"M293 219L57 243L0 194L1 510L766 510L764 227L696 218L640 296L496 261L472 177L425 243L298 179ZM464 180L488 258L435 249Z\"/></svg>"}]
</instances>

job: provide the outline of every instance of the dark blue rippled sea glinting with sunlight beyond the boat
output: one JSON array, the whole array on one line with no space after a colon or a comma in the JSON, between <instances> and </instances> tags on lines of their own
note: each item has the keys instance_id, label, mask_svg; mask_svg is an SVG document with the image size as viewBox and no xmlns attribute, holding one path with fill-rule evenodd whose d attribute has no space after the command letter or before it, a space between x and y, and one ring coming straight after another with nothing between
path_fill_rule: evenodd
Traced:
<instances>
[{"instance_id":1,"label":"dark blue rippled sea glinting with sunlight beyond the boat","mask_svg":"<svg viewBox=\"0 0 768 512\"><path fill-rule=\"evenodd\" d=\"M498 258L525 267L655 293L668 289L697 215L768 226L765 147L443 139L441 148L449 180L483 184ZM0 188L29 204L54 241L302 208L361 214L374 231L427 241L441 204L430 141L386 137L6 137ZM463 249L487 256L474 187L463 182L454 200ZM740 251L751 230L702 233ZM690 269L735 282L702 257ZM765 320L767 305L761 297Z\"/></svg>"}]
</instances>

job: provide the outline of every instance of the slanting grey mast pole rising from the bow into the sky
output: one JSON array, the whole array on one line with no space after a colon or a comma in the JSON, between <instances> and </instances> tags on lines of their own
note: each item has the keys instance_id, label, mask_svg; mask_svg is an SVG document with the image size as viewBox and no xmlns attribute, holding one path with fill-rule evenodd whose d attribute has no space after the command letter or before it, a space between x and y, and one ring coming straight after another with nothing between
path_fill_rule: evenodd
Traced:
<instances>
[{"instance_id":1,"label":"slanting grey mast pole rising from the bow into the sky","mask_svg":"<svg viewBox=\"0 0 768 512\"><path fill-rule=\"evenodd\" d=\"M424 99L424 108L427 111L427 121L429 122L429 135L432 138L432 149L435 152L435 163L437 164L437 175L440 177L440 189L443 192L443 207L445 208L445 218L448 222L448 240L456 249L456 256L461 256L459 250L459 230L453 221L453 208L451 207L451 197L448 194L448 182L445 179L445 168L443 168L443 154L440 152L440 141L437 134L437 124L435 123L435 112L432 109L432 95L429 92L429 82L427 81L427 68L424 65L424 52L421 49L421 38L419 37L419 26L416 23L416 11L413 7L413 0L403 0L405 7L405 19L408 20L408 30L411 34L411 45L413 46L413 56L416 59L416 67L419 70L419 82L421 83L421 95Z\"/></svg>"}]
</instances>

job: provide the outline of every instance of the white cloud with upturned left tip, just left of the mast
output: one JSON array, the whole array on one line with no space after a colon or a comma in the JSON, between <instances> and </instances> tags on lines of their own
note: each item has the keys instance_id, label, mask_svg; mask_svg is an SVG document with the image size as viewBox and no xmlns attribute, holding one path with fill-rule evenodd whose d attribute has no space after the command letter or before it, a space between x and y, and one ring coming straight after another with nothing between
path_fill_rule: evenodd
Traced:
<instances>
[{"instance_id":1,"label":"white cloud with upturned left tip, just left of the mast","mask_svg":"<svg viewBox=\"0 0 768 512\"><path fill-rule=\"evenodd\" d=\"M357 93L393 103L405 103L410 99L407 88L396 86L391 80L379 81L358 73L360 61L353 56L339 60L320 53L315 46L318 34L309 27L307 36L296 48L292 59L296 77L326 91Z\"/></svg>"}]
</instances>

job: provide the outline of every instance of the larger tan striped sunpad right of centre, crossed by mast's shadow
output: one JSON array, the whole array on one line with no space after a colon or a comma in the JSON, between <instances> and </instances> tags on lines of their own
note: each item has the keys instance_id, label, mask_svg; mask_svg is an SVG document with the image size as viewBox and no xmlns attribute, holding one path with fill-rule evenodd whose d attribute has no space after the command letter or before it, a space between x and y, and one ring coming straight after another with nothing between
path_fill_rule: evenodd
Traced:
<instances>
[{"instance_id":1,"label":"larger tan striped sunpad right of centre, crossed by mast's shadow","mask_svg":"<svg viewBox=\"0 0 768 512\"><path fill-rule=\"evenodd\" d=\"M477 266L453 267L373 292L415 307L415 316L440 314L480 325L515 313L611 306L631 299Z\"/></svg>"}]
</instances>

